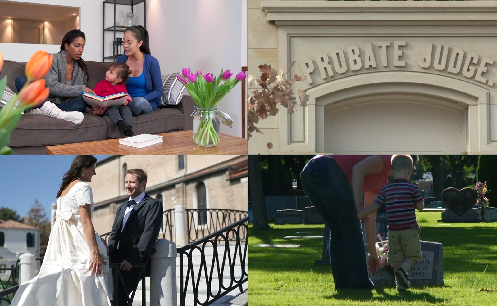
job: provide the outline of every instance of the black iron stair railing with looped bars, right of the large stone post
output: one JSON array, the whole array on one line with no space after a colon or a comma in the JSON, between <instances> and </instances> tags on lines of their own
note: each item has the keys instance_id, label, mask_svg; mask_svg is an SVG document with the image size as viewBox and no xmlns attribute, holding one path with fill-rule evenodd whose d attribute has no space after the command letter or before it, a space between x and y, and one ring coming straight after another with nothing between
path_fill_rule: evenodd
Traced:
<instances>
[{"instance_id":1,"label":"black iron stair railing with looped bars, right of the large stone post","mask_svg":"<svg viewBox=\"0 0 497 306\"><path fill-rule=\"evenodd\" d=\"M243 218L177 250L180 306L185 306L189 292L193 292L194 306L206 306L237 288L243 291L248 280L247 223L248 218ZM211 249L212 255L207 253ZM200 257L200 266L194 266L194 257ZM200 295L206 295L205 301L200 301Z\"/></svg>"}]
</instances>

